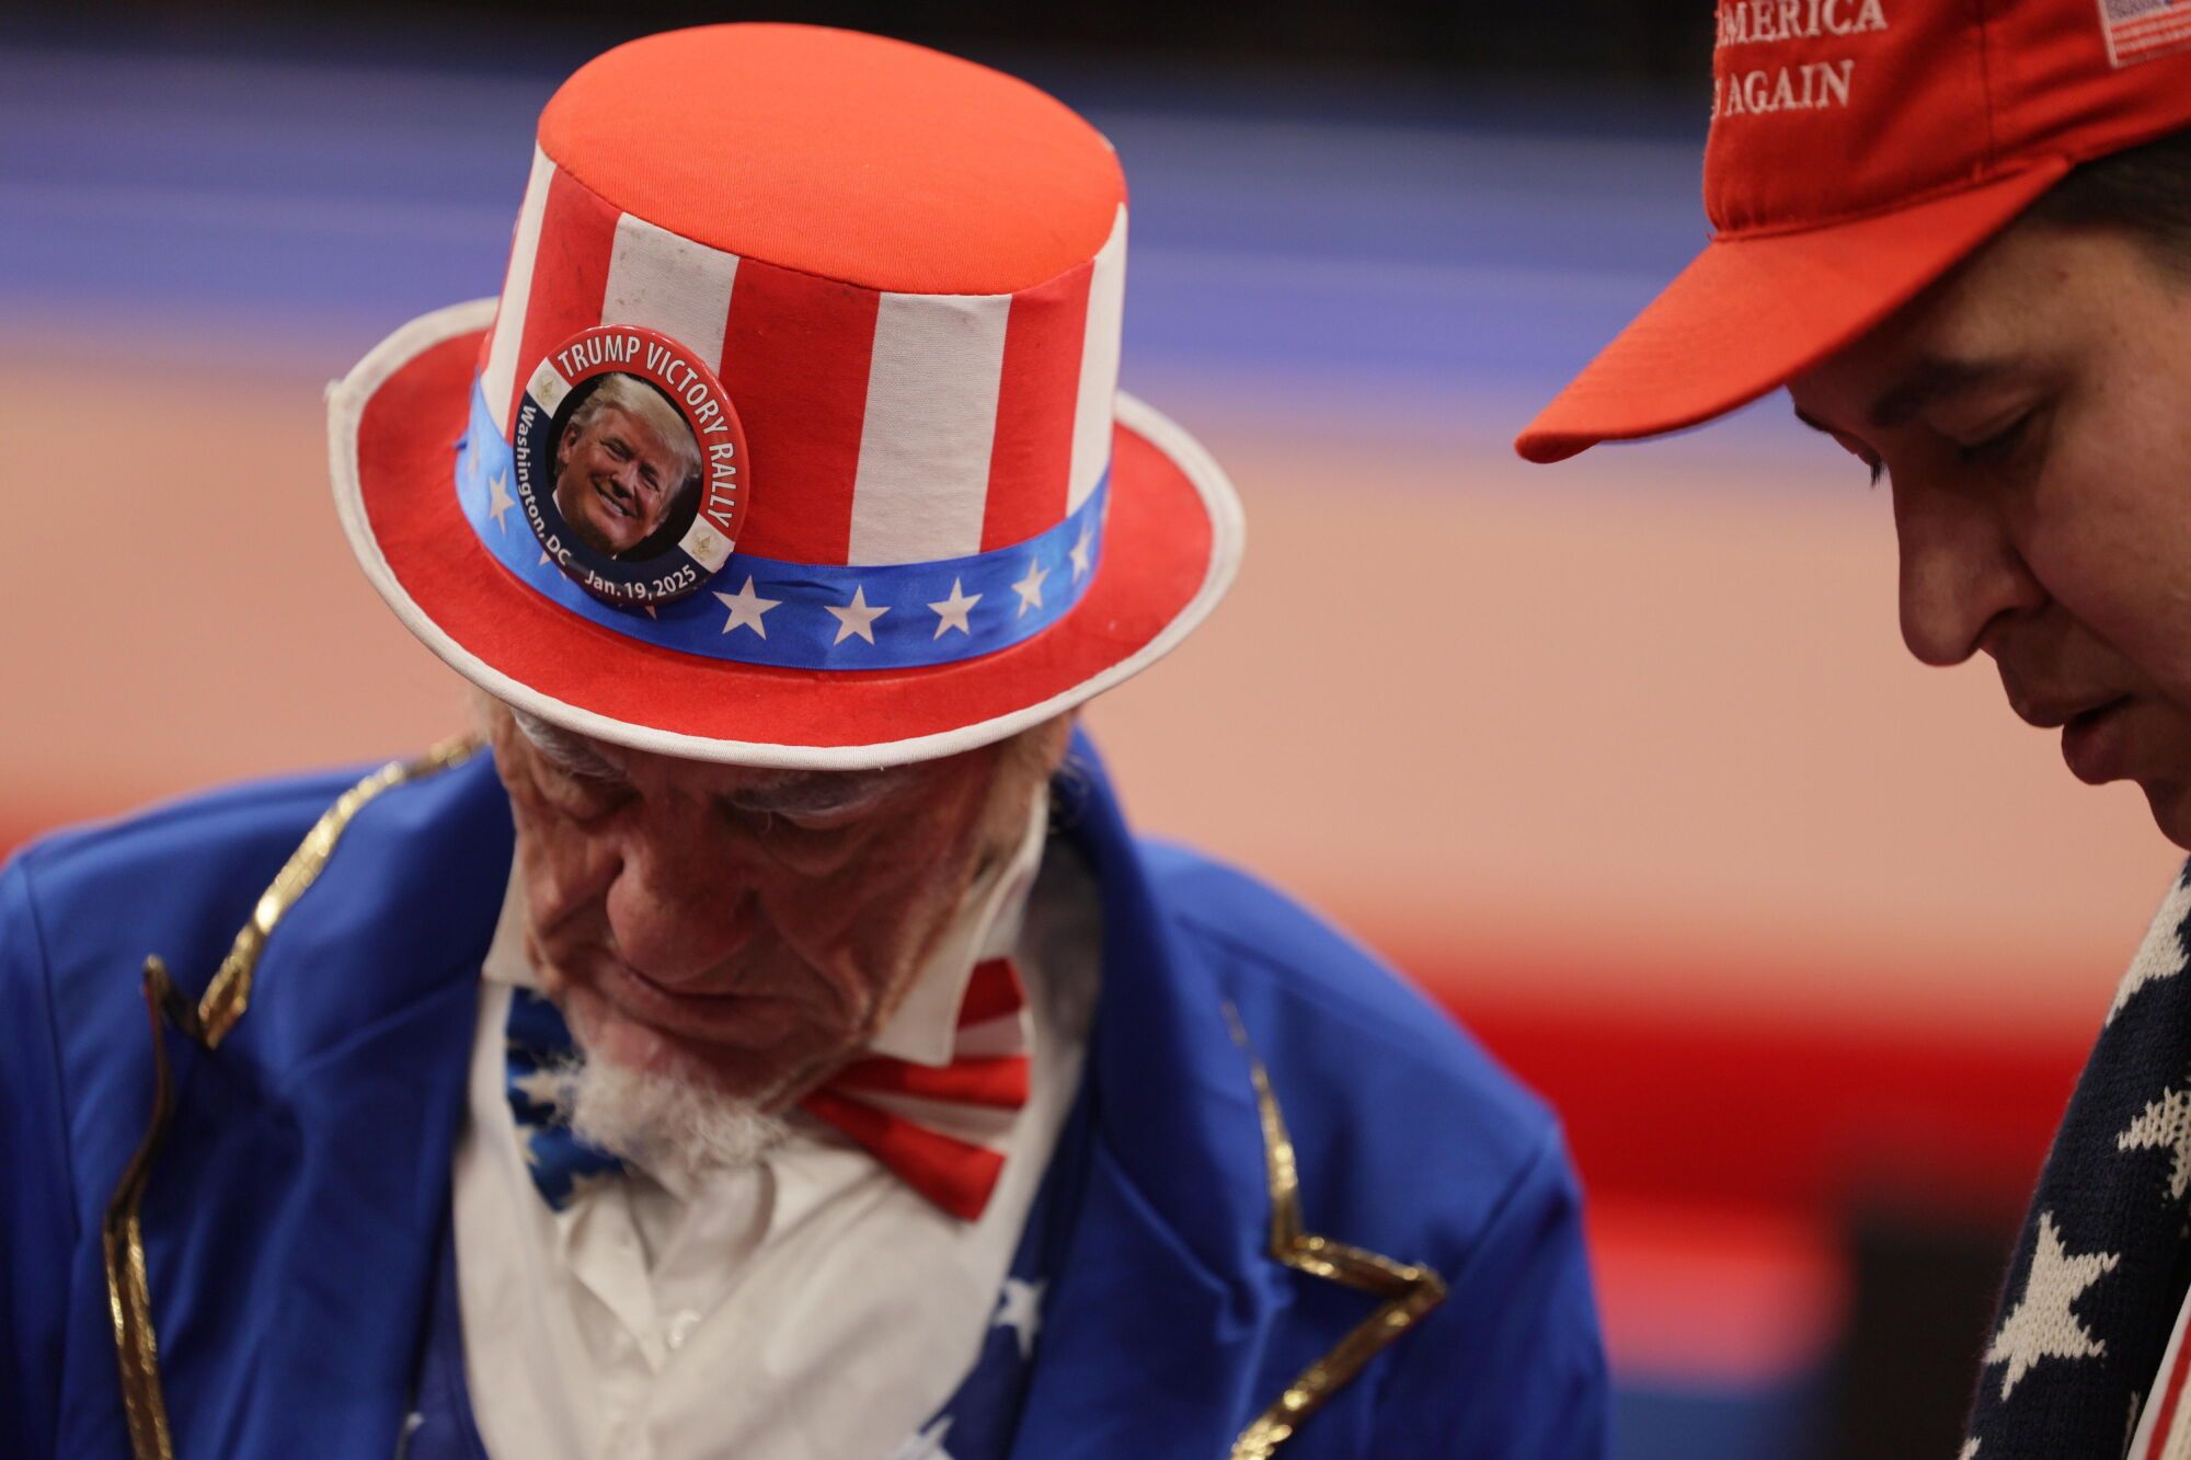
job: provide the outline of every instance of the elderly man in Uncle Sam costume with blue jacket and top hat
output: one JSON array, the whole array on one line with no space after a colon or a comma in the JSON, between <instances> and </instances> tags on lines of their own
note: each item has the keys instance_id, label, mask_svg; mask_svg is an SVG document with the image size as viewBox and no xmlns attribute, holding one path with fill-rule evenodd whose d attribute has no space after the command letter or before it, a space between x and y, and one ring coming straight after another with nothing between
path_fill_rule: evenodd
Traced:
<instances>
[{"instance_id":1,"label":"elderly man in Uncle Sam costume with blue jacket and top hat","mask_svg":"<svg viewBox=\"0 0 2191 1460\"><path fill-rule=\"evenodd\" d=\"M480 737L0 879L0 1451L1604 1451L1551 1116L1074 739L1242 544L1124 259L931 50L557 92L500 303L331 395Z\"/></svg>"}]
</instances>

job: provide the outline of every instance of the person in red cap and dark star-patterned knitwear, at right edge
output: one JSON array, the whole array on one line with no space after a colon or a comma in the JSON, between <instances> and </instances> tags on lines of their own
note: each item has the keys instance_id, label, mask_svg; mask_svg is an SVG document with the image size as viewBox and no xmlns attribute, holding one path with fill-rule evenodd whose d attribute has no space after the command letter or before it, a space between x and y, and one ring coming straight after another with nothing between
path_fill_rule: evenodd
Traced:
<instances>
[{"instance_id":1,"label":"person in red cap and dark star-patterned knitwear, at right edge","mask_svg":"<svg viewBox=\"0 0 2191 1460\"><path fill-rule=\"evenodd\" d=\"M1893 484L1902 634L1985 653L2191 846L2191 4L1718 7L1705 252L1521 434L1551 463L1786 386ZM1965 1460L2191 1456L2191 868L2108 1011Z\"/></svg>"}]
</instances>

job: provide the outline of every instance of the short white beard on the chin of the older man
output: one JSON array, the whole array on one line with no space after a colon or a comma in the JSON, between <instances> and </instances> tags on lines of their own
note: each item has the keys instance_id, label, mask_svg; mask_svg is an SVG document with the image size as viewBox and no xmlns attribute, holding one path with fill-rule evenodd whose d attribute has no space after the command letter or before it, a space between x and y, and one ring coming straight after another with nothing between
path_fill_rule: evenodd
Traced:
<instances>
[{"instance_id":1,"label":"short white beard on the chin of the older man","mask_svg":"<svg viewBox=\"0 0 2191 1460\"><path fill-rule=\"evenodd\" d=\"M585 1043L583 1035L578 1043ZM668 1166L686 1177L736 1171L791 1133L784 1118L767 1114L760 1100L677 1074L581 1057L561 1076L557 1109L572 1133L653 1171Z\"/></svg>"}]
</instances>

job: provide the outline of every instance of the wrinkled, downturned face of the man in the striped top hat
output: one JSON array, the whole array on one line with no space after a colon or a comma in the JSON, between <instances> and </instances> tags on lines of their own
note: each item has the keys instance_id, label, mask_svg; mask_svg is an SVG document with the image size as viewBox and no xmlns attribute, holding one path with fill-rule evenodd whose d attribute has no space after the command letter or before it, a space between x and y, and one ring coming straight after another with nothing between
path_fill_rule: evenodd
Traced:
<instances>
[{"instance_id":1,"label":"wrinkled, downturned face of the man in the striped top hat","mask_svg":"<svg viewBox=\"0 0 2191 1460\"><path fill-rule=\"evenodd\" d=\"M874 1037L1012 855L1067 721L885 772L677 761L502 706L489 734L528 954L587 1057L782 1109Z\"/></svg>"}]
</instances>

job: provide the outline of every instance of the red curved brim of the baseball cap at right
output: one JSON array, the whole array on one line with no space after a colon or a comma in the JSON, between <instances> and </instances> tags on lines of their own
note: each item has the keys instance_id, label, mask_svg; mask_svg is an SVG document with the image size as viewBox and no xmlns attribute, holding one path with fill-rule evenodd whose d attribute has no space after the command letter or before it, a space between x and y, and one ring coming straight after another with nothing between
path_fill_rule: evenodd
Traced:
<instances>
[{"instance_id":1,"label":"red curved brim of the baseball cap at right","mask_svg":"<svg viewBox=\"0 0 2191 1460\"><path fill-rule=\"evenodd\" d=\"M1514 449L1564 460L1599 441L1656 436L1748 406L1862 338L2068 169L2066 158L2049 158L1893 213L1713 239Z\"/></svg>"}]
</instances>

